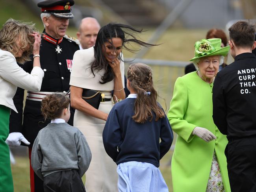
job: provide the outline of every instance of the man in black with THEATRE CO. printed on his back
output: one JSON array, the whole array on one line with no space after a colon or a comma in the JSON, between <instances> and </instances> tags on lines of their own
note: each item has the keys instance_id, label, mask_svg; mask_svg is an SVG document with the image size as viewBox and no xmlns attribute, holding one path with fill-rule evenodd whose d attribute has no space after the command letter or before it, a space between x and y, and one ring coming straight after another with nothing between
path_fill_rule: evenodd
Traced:
<instances>
[{"instance_id":1,"label":"man in black with THEATRE CO. printed on his back","mask_svg":"<svg viewBox=\"0 0 256 192\"><path fill-rule=\"evenodd\" d=\"M256 56L254 26L229 28L235 61L218 72L213 86L213 120L227 135L225 155L232 192L256 191Z\"/></svg>"}]
</instances>

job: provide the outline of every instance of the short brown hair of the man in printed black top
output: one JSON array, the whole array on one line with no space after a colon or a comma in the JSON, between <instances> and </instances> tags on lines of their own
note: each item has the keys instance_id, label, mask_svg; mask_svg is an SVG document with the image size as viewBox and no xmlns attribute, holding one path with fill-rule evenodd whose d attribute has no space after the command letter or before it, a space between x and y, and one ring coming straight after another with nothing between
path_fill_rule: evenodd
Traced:
<instances>
[{"instance_id":1,"label":"short brown hair of the man in printed black top","mask_svg":"<svg viewBox=\"0 0 256 192\"><path fill-rule=\"evenodd\" d=\"M252 47L254 43L255 25L246 21L238 21L229 29L229 37L238 47Z\"/></svg>"}]
</instances>

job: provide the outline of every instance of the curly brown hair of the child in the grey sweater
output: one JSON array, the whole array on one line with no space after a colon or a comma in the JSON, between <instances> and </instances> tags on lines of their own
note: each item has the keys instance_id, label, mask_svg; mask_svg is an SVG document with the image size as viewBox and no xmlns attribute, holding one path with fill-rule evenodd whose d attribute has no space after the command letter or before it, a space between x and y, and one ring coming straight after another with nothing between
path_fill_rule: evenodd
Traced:
<instances>
[{"instance_id":1,"label":"curly brown hair of the child in the grey sweater","mask_svg":"<svg viewBox=\"0 0 256 192\"><path fill-rule=\"evenodd\" d=\"M49 94L46 95L41 102L41 111L46 120L59 118L63 109L69 107L70 100L67 96L62 94Z\"/></svg>"}]
</instances>

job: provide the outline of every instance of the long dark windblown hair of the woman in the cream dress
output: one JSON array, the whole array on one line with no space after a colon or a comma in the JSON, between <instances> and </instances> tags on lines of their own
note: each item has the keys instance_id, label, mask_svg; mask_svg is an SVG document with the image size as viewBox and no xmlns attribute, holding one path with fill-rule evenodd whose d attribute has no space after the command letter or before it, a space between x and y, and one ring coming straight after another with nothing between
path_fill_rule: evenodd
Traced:
<instances>
[{"instance_id":1,"label":"long dark windblown hair of the woman in the cream dress","mask_svg":"<svg viewBox=\"0 0 256 192\"><path fill-rule=\"evenodd\" d=\"M95 46L94 46L94 56L95 56L95 60L93 61L92 65L91 65L91 72L93 73L93 75L95 76L95 71L97 70L105 70L104 75L102 76L100 83L104 84L107 83L109 81L112 81L114 79L114 73L113 70L111 68L111 66L108 65L108 61L105 58L105 54L104 52L105 50L105 46L104 46L104 42L108 42L109 40L110 43L112 44L112 38L120 38L122 39L122 47L125 48L126 50L130 51L130 52L134 52L135 50L130 49L126 46L126 43L129 42L134 42L135 44L138 44L139 46L155 46L155 44L149 44L147 42L143 42L140 41L138 39L136 39L136 34L135 33L141 33L141 30L137 30L129 25L124 25L124 24L116 24L116 23L109 23L105 26L103 26L102 28L100 28L98 35L97 35L97 39L95 42ZM102 47L104 47L104 49L102 50ZM121 59L121 56L118 56L119 59Z\"/></svg>"}]
</instances>

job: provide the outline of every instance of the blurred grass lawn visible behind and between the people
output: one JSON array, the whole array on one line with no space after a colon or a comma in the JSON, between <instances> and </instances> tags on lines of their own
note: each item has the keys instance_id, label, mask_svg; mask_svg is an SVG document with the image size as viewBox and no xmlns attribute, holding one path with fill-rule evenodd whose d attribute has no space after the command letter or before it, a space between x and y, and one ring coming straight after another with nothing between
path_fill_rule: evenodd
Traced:
<instances>
[{"instance_id":1,"label":"blurred grass lawn visible behind and between the people","mask_svg":"<svg viewBox=\"0 0 256 192\"><path fill-rule=\"evenodd\" d=\"M82 2L83 0L80 0ZM29 11L24 3L20 0L5 1L2 4L0 11L0 26L6 22L10 17L23 20L24 22L33 22L35 27L39 31L43 31L43 24L39 15L34 15ZM140 39L147 41L150 35L154 32L153 28L144 28L147 30L142 35L139 35ZM194 56L194 44L195 41L203 39L208 29L187 30L184 28L169 28L158 39L157 44L159 46L152 47L148 50L147 54L143 57L145 59L159 59L159 60L172 60L172 61L186 61L188 62ZM76 37L76 28L69 27L67 34ZM124 59L130 57L136 57L136 54L132 54L127 51L123 51ZM128 65L125 65L126 69ZM169 66L151 66L153 70L154 86L158 90L161 96L159 102L166 111L169 109L169 103L173 96L173 87L176 78L184 74L183 67L169 67ZM166 104L166 107L165 107ZM175 143L175 140L174 142ZM169 151L163 157L160 162L160 170L163 177L169 186L169 191L172 192L171 183L171 166L168 166L172 155L172 151ZM16 164L12 165L13 182L15 192L29 192L30 191L30 179L29 179L29 160L28 157L15 156ZM83 178L85 181L85 178Z\"/></svg>"}]
</instances>

